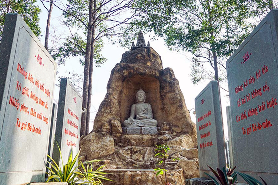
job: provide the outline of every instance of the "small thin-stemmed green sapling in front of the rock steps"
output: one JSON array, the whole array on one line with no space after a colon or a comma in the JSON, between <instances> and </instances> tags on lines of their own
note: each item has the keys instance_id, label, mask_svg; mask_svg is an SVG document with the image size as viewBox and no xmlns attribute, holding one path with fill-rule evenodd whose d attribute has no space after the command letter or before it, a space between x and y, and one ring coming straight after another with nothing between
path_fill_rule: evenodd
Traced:
<instances>
[{"instance_id":1,"label":"small thin-stemmed green sapling in front of the rock steps","mask_svg":"<svg viewBox=\"0 0 278 185\"><path fill-rule=\"evenodd\" d=\"M158 157L158 158L162 158L162 160L159 160L157 165L162 166L163 168L159 168L156 167L154 168L154 171L156 172L156 176L158 175L163 175L165 172L165 184L166 185L171 185L168 181L167 181L167 177L166 177L166 164L165 164L165 160L169 157L169 155L167 154L168 151L170 150L169 146L167 145L167 143L165 144L161 144L161 145L155 145L156 149L155 151L157 151L157 154L155 154L154 156ZM179 160L179 158L171 158L173 161L175 160Z\"/></svg>"}]
</instances>

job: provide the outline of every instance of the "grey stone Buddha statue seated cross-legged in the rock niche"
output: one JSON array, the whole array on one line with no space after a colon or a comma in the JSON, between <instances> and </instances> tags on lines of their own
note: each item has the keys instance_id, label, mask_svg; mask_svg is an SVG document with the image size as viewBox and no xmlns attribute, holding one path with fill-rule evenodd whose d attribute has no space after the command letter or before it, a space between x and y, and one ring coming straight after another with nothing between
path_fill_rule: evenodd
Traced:
<instances>
[{"instance_id":1,"label":"grey stone Buddha statue seated cross-legged in the rock niche","mask_svg":"<svg viewBox=\"0 0 278 185\"><path fill-rule=\"evenodd\" d=\"M131 106L130 117L124 121L123 127L156 127L152 106L145 103L146 93L140 89L136 93L137 103ZM134 117L136 116L136 119Z\"/></svg>"}]
</instances>

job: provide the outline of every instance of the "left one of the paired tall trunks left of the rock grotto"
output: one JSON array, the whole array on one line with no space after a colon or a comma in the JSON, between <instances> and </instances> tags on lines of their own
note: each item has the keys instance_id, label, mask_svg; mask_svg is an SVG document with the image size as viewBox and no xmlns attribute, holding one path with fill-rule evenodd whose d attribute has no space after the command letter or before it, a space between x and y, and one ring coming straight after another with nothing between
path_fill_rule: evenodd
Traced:
<instances>
[{"instance_id":1,"label":"left one of the paired tall trunks left of the rock grotto","mask_svg":"<svg viewBox=\"0 0 278 185\"><path fill-rule=\"evenodd\" d=\"M87 42L86 42L86 54L84 65L84 82L82 93L82 117L81 117L81 129L80 137L86 132L86 117L87 117L87 103L88 103L88 85L89 85L89 70L90 70L90 57L91 57L91 42L92 42L92 23L93 23L93 0L89 2L89 22L87 28Z\"/></svg>"}]
</instances>

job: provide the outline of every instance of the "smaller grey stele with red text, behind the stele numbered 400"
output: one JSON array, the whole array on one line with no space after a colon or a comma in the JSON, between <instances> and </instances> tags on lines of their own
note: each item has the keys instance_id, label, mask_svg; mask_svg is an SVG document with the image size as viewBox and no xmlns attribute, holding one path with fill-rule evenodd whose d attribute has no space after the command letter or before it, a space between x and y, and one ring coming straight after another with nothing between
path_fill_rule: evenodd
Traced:
<instances>
[{"instance_id":1,"label":"smaller grey stele with red text, behind the stele numbered 400","mask_svg":"<svg viewBox=\"0 0 278 185\"><path fill-rule=\"evenodd\" d=\"M70 153L73 157L79 151L79 135L82 114L82 96L69 79L62 78L60 83L57 124L52 158L60 166L67 161ZM58 146L61 150L61 155ZM65 163L64 163L65 164ZM75 163L77 166L78 162Z\"/></svg>"}]
</instances>

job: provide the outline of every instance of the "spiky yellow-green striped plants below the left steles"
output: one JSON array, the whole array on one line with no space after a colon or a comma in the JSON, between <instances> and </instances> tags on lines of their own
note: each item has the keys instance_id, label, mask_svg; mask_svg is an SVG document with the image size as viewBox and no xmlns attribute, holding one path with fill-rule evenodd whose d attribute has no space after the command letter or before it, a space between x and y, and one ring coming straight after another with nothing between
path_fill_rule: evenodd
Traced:
<instances>
[{"instance_id":1,"label":"spiky yellow-green striped plants below the left steles","mask_svg":"<svg viewBox=\"0 0 278 185\"><path fill-rule=\"evenodd\" d=\"M78 156L80 153L80 150L76 154L76 156L73 158L73 153L72 150L70 152L70 156L68 158L67 163L64 165L63 159L62 159L62 154L60 147L58 146L60 156L61 156L61 162L62 162L62 167L60 167L57 162L53 160L48 155L48 158L50 158L50 162L47 161L50 167L46 166L48 169L48 179L46 182L67 182L69 185L75 185L79 180L86 180L86 182L79 183L78 185L81 184L87 184L90 183L91 185L102 185L101 179L102 180L108 180L112 181L108 178L106 178L105 172L101 171L100 169L103 168L104 166L99 167L96 171L93 170L93 162L99 162L101 160L91 160L87 162L79 162L79 164L74 167L78 160ZM86 165L86 167L85 167ZM78 168L81 168L79 170Z\"/></svg>"}]
</instances>

